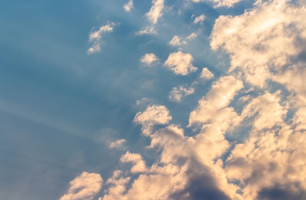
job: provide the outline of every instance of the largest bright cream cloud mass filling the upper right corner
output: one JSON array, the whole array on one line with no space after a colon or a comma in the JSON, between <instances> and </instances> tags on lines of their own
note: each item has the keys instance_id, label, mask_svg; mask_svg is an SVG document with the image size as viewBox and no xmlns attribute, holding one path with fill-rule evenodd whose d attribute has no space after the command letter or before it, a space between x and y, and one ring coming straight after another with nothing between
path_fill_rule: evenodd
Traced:
<instances>
[{"instance_id":1,"label":"largest bright cream cloud mass filling the upper right corner","mask_svg":"<svg viewBox=\"0 0 306 200\"><path fill-rule=\"evenodd\" d=\"M258 0L255 8L240 16L220 16L210 44L212 49L220 47L230 54L229 71L241 69L247 82L264 87L275 74L289 78L294 70L286 71L287 65L303 60L305 17L306 7L301 1ZM281 82L292 86L289 80Z\"/></svg>"}]
</instances>

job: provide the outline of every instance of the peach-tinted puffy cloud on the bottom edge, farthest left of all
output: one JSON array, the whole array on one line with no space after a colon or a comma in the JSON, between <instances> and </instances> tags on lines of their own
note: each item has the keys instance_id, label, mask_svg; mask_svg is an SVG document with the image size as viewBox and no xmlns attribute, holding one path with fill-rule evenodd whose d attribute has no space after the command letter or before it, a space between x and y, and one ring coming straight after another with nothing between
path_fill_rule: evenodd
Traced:
<instances>
[{"instance_id":1,"label":"peach-tinted puffy cloud on the bottom edge, farthest left of all","mask_svg":"<svg viewBox=\"0 0 306 200\"><path fill-rule=\"evenodd\" d=\"M101 190L103 180L100 174L82 172L69 182L69 189L60 200L92 200Z\"/></svg>"}]
</instances>

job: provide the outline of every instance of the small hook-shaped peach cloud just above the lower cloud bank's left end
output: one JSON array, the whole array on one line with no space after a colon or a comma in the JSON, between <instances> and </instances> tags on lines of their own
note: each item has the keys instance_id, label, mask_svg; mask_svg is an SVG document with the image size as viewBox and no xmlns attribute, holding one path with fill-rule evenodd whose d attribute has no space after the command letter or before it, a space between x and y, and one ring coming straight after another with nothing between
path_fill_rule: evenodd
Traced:
<instances>
[{"instance_id":1,"label":"small hook-shaped peach cloud just above the lower cloud bank's left end","mask_svg":"<svg viewBox=\"0 0 306 200\"><path fill-rule=\"evenodd\" d=\"M132 173L145 172L147 170L146 163L142 159L140 154L133 154L127 151L120 159L121 162L132 162L133 166L131 168Z\"/></svg>"}]
</instances>

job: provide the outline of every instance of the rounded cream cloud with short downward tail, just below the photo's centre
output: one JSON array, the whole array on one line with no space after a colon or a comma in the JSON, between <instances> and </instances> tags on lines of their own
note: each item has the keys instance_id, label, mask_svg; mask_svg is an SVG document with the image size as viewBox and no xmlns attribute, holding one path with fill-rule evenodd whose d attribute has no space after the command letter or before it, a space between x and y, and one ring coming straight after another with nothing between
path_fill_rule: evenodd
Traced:
<instances>
[{"instance_id":1,"label":"rounded cream cloud with short downward tail, just below the photo's centre","mask_svg":"<svg viewBox=\"0 0 306 200\"><path fill-rule=\"evenodd\" d=\"M138 112L134 117L134 122L142 125L142 133L150 135L152 128L157 124L167 124L172 120L169 110L163 105L148 106L144 112Z\"/></svg>"}]
</instances>

